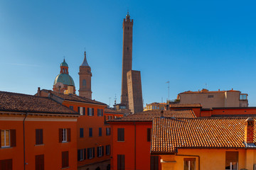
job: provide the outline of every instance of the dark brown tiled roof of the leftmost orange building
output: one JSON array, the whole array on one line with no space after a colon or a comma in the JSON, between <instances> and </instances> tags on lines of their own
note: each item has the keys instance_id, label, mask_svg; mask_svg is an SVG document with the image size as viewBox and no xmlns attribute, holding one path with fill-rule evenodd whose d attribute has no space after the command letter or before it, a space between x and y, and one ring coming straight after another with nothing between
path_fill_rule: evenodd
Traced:
<instances>
[{"instance_id":1,"label":"dark brown tiled roof of the leftmost orange building","mask_svg":"<svg viewBox=\"0 0 256 170\"><path fill-rule=\"evenodd\" d=\"M0 111L78 114L50 98L0 91Z\"/></svg>"}]
</instances>

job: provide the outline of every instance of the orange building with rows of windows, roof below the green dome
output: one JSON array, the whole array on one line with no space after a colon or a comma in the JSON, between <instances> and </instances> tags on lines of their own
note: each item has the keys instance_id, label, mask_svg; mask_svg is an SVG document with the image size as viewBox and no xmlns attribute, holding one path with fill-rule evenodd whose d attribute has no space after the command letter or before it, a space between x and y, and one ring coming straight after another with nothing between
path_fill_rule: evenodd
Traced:
<instances>
[{"instance_id":1,"label":"orange building with rows of windows, roof below the green dome","mask_svg":"<svg viewBox=\"0 0 256 170\"><path fill-rule=\"evenodd\" d=\"M122 114L108 111L107 105L90 98L65 95L55 91L38 91L41 96L50 96L63 106L80 113L77 123L78 169L110 169L110 125L105 123L105 118L117 118Z\"/></svg>"}]
</instances>

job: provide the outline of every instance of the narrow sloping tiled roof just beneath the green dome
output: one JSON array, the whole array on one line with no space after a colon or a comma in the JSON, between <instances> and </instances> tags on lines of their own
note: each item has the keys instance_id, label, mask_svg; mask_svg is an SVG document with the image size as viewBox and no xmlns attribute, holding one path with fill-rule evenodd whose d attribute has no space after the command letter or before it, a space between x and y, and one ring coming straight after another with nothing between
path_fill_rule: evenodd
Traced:
<instances>
[{"instance_id":1,"label":"narrow sloping tiled roof just beneath the green dome","mask_svg":"<svg viewBox=\"0 0 256 170\"><path fill-rule=\"evenodd\" d=\"M90 98L76 96L75 94L60 94L56 91L50 91L50 90L46 90L46 89L43 89L42 91L46 91L47 93L51 93L55 96L58 96L59 98L63 98L64 100L67 100L67 101L80 101L80 102L85 102L85 103L92 103L92 104L107 106L107 104L102 103L100 101L95 101Z\"/></svg>"}]
</instances>

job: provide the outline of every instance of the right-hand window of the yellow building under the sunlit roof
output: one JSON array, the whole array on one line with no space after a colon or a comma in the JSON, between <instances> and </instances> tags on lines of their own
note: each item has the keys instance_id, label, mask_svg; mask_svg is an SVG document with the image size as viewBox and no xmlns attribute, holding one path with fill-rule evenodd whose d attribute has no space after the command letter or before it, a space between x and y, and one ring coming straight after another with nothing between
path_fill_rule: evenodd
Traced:
<instances>
[{"instance_id":1,"label":"right-hand window of the yellow building under the sunlit roof","mask_svg":"<svg viewBox=\"0 0 256 170\"><path fill-rule=\"evenodd\" d=\"M225 152L225 170L238 170L238 152Z\"/></svg>"}]
</instances>

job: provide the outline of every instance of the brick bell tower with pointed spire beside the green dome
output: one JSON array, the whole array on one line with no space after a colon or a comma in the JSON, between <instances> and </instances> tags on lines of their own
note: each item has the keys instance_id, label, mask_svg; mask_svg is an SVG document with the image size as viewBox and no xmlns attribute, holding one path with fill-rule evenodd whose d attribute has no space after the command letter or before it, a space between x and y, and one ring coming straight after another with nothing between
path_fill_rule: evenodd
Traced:
<instances>
[{"instance_id":1,"label":"brick bell tower with pointed spire beside the green dome","mask_svg":"<svg viewBox=\"0 0 256 170\"><path fill-rule=\"evenodd\" d=\"M79 96L92 99L92 89L91 89L91 78L92 72L90 66L85 58L82 65L79 67Z\"/></svg>"}]
</instances>

